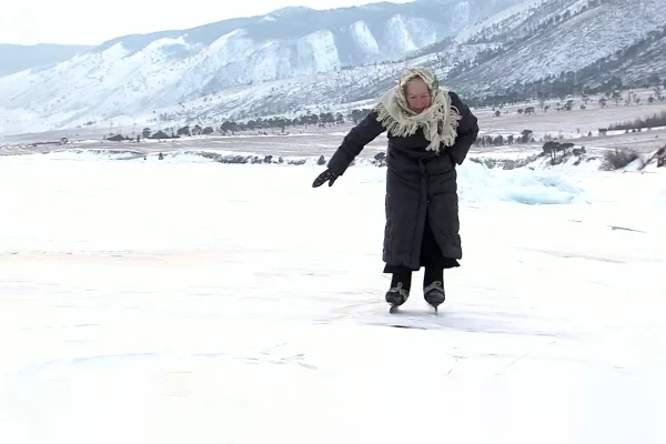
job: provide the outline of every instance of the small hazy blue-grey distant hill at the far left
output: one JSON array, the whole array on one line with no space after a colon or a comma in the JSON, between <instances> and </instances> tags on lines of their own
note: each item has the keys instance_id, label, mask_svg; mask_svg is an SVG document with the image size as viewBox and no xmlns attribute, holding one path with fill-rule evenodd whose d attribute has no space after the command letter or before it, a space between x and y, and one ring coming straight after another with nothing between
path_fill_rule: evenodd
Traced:
<instances>
[{"instance_id":1,"label":"small hazy blue-grey distant hill at the far left","mask_svg":"<svg viewBox=\"0 0 666 444\"><path fill-rule=\"evenodd\" d=\"M27 69L46 69L93 47L75 44L8 44L0 43L0 78Z\"/></svg>"}]
</instances>

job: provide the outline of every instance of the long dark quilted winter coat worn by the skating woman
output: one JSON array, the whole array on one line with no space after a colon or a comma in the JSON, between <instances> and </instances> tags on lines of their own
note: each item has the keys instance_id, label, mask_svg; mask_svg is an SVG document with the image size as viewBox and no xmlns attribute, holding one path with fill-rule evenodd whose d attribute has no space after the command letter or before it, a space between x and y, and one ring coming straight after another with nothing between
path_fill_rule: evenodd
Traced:
<instances>
[{"instance_id":1,"label":"long dark quilted winter coat worn by the skating woman","mask_svg":"<svg viewBox=\"0 0 666 444\"><path fill-rule=\"evenodd\" d=\"M443 256L463 256L455 165L465 160L478 134L478 124L458 95L450 95L451 104L462 117L452 147L442 145L440 153L426 151L428 142L421 128L408 137L387 135L383 260L389 265L420 269L426 211ZM329 161L332 172L342 175L363 148L385 131L376 118L376 112L371 112L349 132Z\"/></svg>"}]
</instances>

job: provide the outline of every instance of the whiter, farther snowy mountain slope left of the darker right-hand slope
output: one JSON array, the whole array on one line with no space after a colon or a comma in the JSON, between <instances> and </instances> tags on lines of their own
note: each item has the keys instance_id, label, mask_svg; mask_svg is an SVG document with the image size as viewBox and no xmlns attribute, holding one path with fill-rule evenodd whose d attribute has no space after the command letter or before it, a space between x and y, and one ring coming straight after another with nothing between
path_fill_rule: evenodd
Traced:
<instances>
[{"instance_id":1,"label":"whiter, farther snowy mountain slope left of the darker right-hand slope","mask_svg":"<svg viewBox=\"0 0 666 444\"><path fill-rule=\"evenodd\" d=\"M0 103L60 125L135 114L228 88L400 59L518 1L287 8L184 31L129 36L52 69L0 79Z\"/></svg>"}]
</instances>

